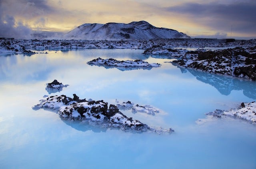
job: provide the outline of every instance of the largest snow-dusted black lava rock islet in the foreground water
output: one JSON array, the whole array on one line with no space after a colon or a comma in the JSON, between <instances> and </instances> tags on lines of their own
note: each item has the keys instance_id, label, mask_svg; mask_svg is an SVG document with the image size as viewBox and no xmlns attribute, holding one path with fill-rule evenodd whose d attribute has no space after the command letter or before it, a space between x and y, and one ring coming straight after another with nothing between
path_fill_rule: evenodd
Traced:
<instances>
[{"instance_id":1,"label":"largest snow-dusted black lava rock islet in the foreground water","mask_svg":"<svg viewBox=\"0 0 256 169\"><path fill-rule=\"evenodd\" d=\"M100 125L101 127L115 127L122 130L134 131L153 131L156 133L172 132L172 129L154 129L138 120L128 118L121 113L116 105L108 108L108 103L100 101L86 101L79 99L74 94L74 98L66 97L66 95L50 96L40 100L38 105L32 107L34 110L43 108L52 111L58 111L63 119L89 121Z\"/></svg>"}]
</instances>

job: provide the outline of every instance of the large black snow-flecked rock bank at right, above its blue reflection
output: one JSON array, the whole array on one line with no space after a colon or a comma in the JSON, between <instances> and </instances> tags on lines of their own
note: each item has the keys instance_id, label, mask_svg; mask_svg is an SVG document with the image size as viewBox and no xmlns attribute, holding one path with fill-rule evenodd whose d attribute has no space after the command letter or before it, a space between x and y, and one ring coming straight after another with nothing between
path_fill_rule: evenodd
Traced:
<instances>
[{"instance_id":1,"label":"large black snow-flecked rock bank at right, above its blue reflection","mask_svg":"<svg viewBox=\"0 0 256 169\"><path fill-rule=\"evenodd\" d=\"M187 52L172 64L223 74L238 78L256 80L256 46L226 50Z\"/></svg>"}]
</instances>

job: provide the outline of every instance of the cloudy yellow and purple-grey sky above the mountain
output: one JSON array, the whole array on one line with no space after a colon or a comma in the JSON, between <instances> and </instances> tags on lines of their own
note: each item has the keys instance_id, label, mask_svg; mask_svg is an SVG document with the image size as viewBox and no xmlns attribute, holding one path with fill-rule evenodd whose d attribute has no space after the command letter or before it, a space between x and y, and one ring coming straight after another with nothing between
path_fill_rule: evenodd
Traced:
<instances>
[{"instance_id":1,"label":"cloudy yellow and purple-grey sky above the mountain","mask_svg":"<svg viewBox=\"0 0 256 169\"><path fill-rule=\"evenodd\" d=\"M0 37L145 20L192 38L252 39L255 16L256 0L0 0Z\"/></svg>"}]
</instances>

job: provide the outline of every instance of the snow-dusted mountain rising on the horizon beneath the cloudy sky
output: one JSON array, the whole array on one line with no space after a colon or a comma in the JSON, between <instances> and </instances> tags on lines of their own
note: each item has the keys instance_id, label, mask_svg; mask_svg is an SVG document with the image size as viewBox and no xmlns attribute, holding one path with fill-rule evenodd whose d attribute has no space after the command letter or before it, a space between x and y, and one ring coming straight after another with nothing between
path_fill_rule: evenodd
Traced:
<instances>
[{"instance_id":1,"label":"snow-dusted mountain rising on the horizon beneath the cloudy sky","mask_svg":"<svg viewBox=\"0 0 256 169\"><path fill-rule=\"evenodd\" d=\"M65 39L122 40L190 38L186 34L167 28L156 28L146 21L130 24L83 24L64 35Z\"/></svg>"}]
</instances>

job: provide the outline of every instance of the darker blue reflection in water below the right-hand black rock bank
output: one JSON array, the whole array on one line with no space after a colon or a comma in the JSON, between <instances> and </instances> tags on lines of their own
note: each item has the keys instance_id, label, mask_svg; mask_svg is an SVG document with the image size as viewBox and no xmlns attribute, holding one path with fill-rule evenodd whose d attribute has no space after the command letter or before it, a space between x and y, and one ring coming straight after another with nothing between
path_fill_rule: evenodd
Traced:
<instances>
[{"instance_id":1,"label":"darker blue reflection in water below the right-hand black rock bank","mask_svg":"<svg viewBox=\"0 0 256 169\"><path fill-rule=\"evenodd\" d=\"M180 68L182 73L186 73L184 68ZM222 95L230 95L232 90L243 90L244 95L251 99L256 99L256 83L237 78L221 76L187 69L197 80L215 87Z\"/></svg>"}]
</instances>

